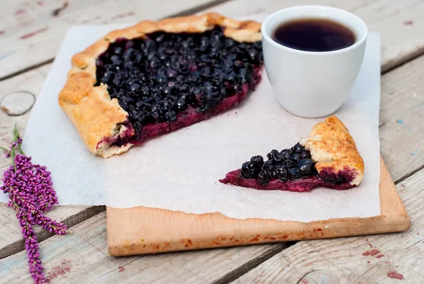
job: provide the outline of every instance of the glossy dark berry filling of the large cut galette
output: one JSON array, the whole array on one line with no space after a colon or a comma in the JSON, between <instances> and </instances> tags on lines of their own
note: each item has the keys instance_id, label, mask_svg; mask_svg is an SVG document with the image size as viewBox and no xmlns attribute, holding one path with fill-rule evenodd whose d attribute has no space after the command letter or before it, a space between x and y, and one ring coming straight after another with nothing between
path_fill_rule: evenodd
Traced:
<instances>
[{"instance_id":1,"label":"glossy dark berry filling of the large cut galette","mask_svg":"<svg viewBox=\"0 0 424 284\"><path fill-rule=\"evenodd\" d=\"M140 141L240 102L259 82L261 48L261 42L226 38L220 27L117 40L96 61L97 84L107 84L129 113Z\"/></svg>"}]
</instances>

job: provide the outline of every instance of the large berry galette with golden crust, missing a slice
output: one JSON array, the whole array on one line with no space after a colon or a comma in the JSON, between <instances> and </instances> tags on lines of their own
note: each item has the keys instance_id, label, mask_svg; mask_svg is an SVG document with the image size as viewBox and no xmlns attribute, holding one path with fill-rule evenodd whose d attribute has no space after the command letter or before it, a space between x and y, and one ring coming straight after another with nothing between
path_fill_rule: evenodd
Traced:
<instances>
[{"instance_id":1,"label":"large berry galette with golden crust, missing a slice","mask_svg":"<svg viewBox=\"0 0 424 284\"><path fill-rule=\"evenodd\" d=\"M110 157L240 103L261 79L261 24L217 13L114 30L72 58L59 104Z\"/></svg>"}]
</instances>

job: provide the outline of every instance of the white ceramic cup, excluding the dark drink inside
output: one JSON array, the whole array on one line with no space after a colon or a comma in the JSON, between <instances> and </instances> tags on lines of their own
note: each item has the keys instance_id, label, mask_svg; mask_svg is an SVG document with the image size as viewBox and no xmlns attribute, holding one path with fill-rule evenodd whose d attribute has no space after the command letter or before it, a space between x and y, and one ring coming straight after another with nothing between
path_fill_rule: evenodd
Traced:
<instances>
[{"instance_id":1,"label":"white ceramic cup, excluding the dark drink inside","mask_svg":"<svg viewBox=\"0 0 424 284\"><path fill-rule=\"evenodd\" d=\"M336 21L353 30L355 42L341 50L310 52L278 44L273 33L301 18ZM367 25L358 17L327 6L294 6L272 13L262 23L266 74L278 102L294 115L319 118L334 113L348 97L363 62Z\"/></svg>"}]
</instances>

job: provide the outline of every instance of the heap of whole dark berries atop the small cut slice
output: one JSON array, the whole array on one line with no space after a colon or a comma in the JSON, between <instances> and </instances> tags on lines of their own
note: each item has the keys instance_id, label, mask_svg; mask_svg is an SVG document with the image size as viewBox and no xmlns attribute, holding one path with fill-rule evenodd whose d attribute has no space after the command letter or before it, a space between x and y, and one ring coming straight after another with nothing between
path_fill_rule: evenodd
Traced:
<instances>
[{"instance_id":1,"label":"heap of whole dark berries atop the small cut slice","mask_svg":"<svg viewBox=\"0 0 424 284\"><path fill-rule=\"evenodd\" d=\"M242 177L254 178L264 185L271 179L288 181L317 175L310 152L299 143L281 152L273 149L266 157L268 160L264 161L262 156L254 156L242 164Z\"/></svg>"}]
</instances>

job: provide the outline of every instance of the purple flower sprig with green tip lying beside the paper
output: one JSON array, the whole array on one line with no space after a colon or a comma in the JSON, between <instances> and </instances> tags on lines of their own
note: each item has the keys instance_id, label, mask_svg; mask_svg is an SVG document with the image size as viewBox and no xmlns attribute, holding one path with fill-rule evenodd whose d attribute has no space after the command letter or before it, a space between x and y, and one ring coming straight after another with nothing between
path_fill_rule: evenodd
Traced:
<instances>
[{"instance_id":1,"label":"purple flower sprig with green tip lying beside the paper","mask_svg":"<svg viewBox=\"0 0 424 284\"><path fill-rule=\"evenodd\" d=\"M43 273L40 259L40 246L37 242L33 226L40 225L50 233L66 234L66 225L56 222L43 213L52 210L58 204L56 192L53 189L50 172L45 166L31 163L31 157L26 157L20 145L18 129L13 130L13 142L10 149L3 149L6 157L12 157L10 166L3 176L3 186L0 190L9 195L8 206L16 210L19 225L25 239L25 250L28 253L28 266L34 283L48 283Z\"/></svg>"}]
</instances>

